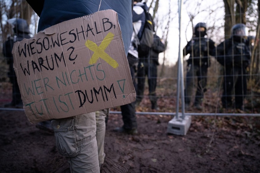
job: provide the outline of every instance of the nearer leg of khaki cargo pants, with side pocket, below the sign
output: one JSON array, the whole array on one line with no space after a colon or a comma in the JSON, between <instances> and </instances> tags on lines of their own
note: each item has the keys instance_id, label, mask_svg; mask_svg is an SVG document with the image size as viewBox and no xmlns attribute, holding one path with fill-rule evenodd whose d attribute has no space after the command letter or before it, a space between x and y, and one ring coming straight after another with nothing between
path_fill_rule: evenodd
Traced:
<instances>
[{"instance_id":1,"label":"nearer leg of khaki cargo pants, with side pocket, below the sign","mask_svg":"<svg viewBox=\"0 0 260 173\"><path fill-rule=\"evenodd\" d=\"M96 113L51 121L58 152L65 156L71 172L99 172Z\"/></svg>"}]
</instances>

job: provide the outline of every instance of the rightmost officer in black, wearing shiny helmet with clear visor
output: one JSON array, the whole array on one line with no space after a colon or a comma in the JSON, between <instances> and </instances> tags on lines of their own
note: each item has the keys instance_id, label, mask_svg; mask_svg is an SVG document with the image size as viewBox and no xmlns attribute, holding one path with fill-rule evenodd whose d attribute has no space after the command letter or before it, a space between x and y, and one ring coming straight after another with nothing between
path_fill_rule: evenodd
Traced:
<instances>
[{"instance_id":1,"label":"rightmost officer in black, wearing shiny helmet with clear visor","mask_svg":"<svg viewBox=\"0 0 260 173\"><path fill-rule=\"evenodd\" d=\"M247 41L248 29L243 23L234 25L231 37L217 46L217 61L224 66L222 94L223 108L243 109L247 91L246 68L250 63L250 48ZM235 99L232 94L234 91ZM234 105L233 105L234 101Z\"/></svg>"}]
</instances>

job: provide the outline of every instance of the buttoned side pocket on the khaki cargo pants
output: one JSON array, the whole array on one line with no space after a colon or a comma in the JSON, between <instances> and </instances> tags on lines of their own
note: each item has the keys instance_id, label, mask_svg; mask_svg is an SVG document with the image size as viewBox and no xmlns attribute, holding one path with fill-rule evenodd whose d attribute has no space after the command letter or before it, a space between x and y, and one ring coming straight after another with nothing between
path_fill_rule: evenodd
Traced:
<instances>
[{"instance_id":1,"label":"buttoned side pocket on the khaki cargo pants","mask_svg":"<svg viewBox=\"0 0 260 173\"><path fill-rule=\"evenodd\" d=\"M74 117L54 119L51 121L58 152L65 157L79 154L81 147L77 145L77 133L74 129Z\"/></svg>"}]
</instances>

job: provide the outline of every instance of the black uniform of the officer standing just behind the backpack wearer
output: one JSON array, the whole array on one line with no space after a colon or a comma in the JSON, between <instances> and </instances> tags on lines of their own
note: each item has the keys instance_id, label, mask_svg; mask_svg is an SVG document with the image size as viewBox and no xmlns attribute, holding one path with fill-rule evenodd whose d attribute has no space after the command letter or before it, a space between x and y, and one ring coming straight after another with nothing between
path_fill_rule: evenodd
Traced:
<instances>
[{"instance_id":1,"label":"black uniform of the officer standing just behind the backpack wearer","mask_svg":"<svg viewBox=\"0 0 260 173\"><path fill-rule=\"evenodd\" d=\"M144 83L145 77L148 78L149 85L149 98L152 103L152 109L157 108L157 97L155 93L157 85L157 65L159 53L165 50L165 45L161 42L160 37L154 34L153 45L148 57L139 57L138 62L138 84L137 84L137 97L136 102L141 102L144 97Z\"/></svg>"}]
</instances>

